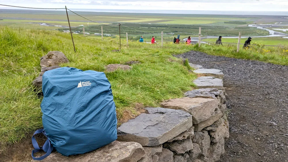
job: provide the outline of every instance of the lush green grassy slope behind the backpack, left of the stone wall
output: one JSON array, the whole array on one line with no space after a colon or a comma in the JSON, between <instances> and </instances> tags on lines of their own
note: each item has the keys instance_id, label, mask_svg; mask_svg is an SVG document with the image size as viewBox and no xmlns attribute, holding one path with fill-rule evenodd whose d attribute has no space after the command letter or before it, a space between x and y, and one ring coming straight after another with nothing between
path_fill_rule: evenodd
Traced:
<instances>
[{"instance_id":1,"label":"lush green grassy slope behind the backpack, left of the stone wall","mask_svg":"<svg viewBox=\"0 0 288 162\"><path fill-rule=\"evenodd\" d=\"M42 127L40 103L31 82L39 75L40 57L49 51L63 52L70 63L62 66L82 70L104 71L105 65L138 60L132 70L106 73L112 85L117 117L123 113L135 115L137 103L159 106L159 102L178 98L192 89L196 75L173 57L190 51L193 46L151 45L123 41L121 52L118 39L74 35L77 53L68 33L36 29L13 29L0 26L0 152L7 144L25 138ZM127 118L127 117L126 117Z\"/></svg>"}]
</instances>

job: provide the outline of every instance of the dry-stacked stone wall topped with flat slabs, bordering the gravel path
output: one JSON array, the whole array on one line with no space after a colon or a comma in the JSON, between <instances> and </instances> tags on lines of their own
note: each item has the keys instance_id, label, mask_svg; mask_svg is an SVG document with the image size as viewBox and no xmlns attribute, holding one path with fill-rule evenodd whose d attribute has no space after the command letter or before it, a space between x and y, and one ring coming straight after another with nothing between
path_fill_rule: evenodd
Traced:
<instances>
[{"instance_id":1,"label":"dry-stacked stone wall topped with flat slabs, bordering the gravel path","mask_svg":"<svg viewBox=\"0 0 288 162\"><path fill-rule=\"evenodd\" d=\"M224 75L216 69L196 72L205 75L194 81L201 89L162 102L161 107L145 108L145 113L118 127L117 141L83 155L64 157L54 152L43 161L218 161L229 138Z\"/></svg>"}]
</instances>

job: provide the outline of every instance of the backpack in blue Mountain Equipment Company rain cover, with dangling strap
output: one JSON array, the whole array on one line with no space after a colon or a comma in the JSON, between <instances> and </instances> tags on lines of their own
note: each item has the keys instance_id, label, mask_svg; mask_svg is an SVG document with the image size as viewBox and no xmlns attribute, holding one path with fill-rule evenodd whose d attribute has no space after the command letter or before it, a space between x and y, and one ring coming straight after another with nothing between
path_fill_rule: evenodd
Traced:
<instances>
[{"instance_id":1,"label":"backpack in blue Mountain Equipment Company rain cover, with dangling strap","mask_svg":"<svg viewBox=\"0 0 288 162\"><path fill-rule=\"evenodd\" d=\"M103 72L56 68L43 74L41 111L48 138L42 147L32 136L32 158L42 160L53 149L64 156L96 150L117 139L117 118L111 84ZM46 152L42 157L34 153Z\"/></svg>"}]
</instances>

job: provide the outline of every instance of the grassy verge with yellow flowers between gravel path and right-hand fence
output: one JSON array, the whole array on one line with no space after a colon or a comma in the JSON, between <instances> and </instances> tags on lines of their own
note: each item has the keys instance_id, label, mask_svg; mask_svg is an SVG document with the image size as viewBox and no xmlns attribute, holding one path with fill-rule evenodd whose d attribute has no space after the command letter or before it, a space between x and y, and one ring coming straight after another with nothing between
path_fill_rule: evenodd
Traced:
<instances>
[{"instance_id":1,"label":"grassy verge with yellow flowers between gravel path and right-hand fence","mask_svg":"<svg viewBox=\"0 0 288 162\"><path fill-rule=\"evenodd\" d=\"M288 65L288 45L279 47L264 47L263 45L251 45L250 48L240 48L236 52L237 45L208 45L193 46L193 50L205 52L210 55L240 58L246 60L258 60L273 64Z\"/></svg>"}]
</instances>

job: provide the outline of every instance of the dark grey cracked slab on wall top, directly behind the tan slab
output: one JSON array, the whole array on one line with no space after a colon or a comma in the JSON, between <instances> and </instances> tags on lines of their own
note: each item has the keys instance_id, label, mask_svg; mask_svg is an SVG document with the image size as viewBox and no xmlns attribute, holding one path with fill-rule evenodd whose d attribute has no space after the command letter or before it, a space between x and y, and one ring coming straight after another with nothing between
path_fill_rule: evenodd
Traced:
<instances>
[{"instance_id":1,"label":"dark grey cracked slab on wall top, directly behind the tan slab","mask_svg":"<svg viewBox=\"0 0 288 162\"><path fill-rule=\"evenodd\" d=\"M184 94L184 96L189 97L189 98L194 98L194 97L217 98L216 96L219 96L220 94L221 92L216 88L201 88L201 89L188 91Z\"/></svg>"}]
</instances>

